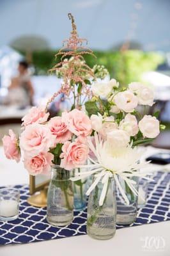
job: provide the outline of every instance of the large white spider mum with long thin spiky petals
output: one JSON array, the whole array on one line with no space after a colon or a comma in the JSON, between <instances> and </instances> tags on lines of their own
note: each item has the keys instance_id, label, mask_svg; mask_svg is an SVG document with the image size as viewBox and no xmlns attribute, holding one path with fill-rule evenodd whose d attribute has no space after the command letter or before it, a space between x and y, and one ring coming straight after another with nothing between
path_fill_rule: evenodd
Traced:
<instances>
[{"instance_id":1,"label":"large white spider mum with long thin spiky petals","mask_svg":"<svg viewBox=\"0 0 170 256\"><path fill-rule=\"evenodd\" d=\"M91 137L88 138L88 145L91 152L94 154L94 159L89 157L89 160L93 164L80 165L79 168L89 168L88 172L77 173L76 177L71 178L72 180L79 180L84 177L88 177L95 173L96 179L89 187L86 195L89 195L91 191L97 186L100 180L104 184L102 193L100 195L99 205L104 204L104 198L107 192L107 184L109 177L114 177L118 188L120 189L121 195L125 202L129 204L127 195L121 187L118 177L125 180L127 185L132 190L134 195L138 195L137 190L134 187L135 181L130 177L145 177L148 173L139 172L140 168L144 168L147 163L140 163L139 160L143 152L139 148L132 148L132 145L124 148L115 148L108 143L108 141L102 141L97 132L95 132L95 143L91 141ZM148 179L145 177L145 179Z\"/></svg>"}]
</instances>

